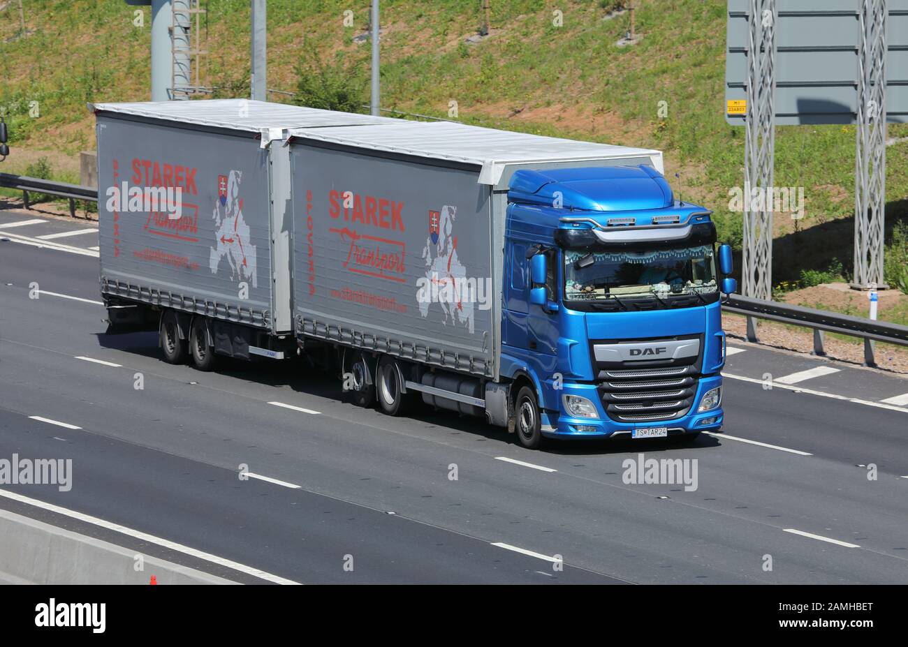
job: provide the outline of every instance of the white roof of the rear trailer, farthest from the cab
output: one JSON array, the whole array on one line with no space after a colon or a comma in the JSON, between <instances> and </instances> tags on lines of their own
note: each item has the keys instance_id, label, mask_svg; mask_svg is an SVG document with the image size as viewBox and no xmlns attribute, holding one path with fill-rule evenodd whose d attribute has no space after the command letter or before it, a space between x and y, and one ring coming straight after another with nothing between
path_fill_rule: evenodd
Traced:
<instances>
[{"instance_id":1,"label":"white roof of the rear trailer, farthest from the cab","mask_svg":"<svg viewBox=\"0 0 908 647\"><path fill-rule=\"evenodd\" d=\"M340 113L288 103L268 103L247 99L89 103L88 109L95 113L131 114L148 119L194 123L248 132L262 132L278 128L324 128L366 123L400 123L400 120L390 117Z\"/></svg>"}]
</instances>

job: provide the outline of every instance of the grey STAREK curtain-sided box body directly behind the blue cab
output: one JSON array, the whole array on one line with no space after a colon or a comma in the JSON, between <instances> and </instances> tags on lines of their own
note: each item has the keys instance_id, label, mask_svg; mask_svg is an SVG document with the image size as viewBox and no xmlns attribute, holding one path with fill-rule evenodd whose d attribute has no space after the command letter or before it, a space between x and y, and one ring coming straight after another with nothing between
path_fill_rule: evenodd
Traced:
<instances>
[{"instance_id":1,"label":"grey STAREK curtain-sided box body directly behind the blue cab","mask_svg":"<svg viewBox=\"0 0 908 647\"><path fill-rule=\"evenodd\" d=\"M663 172L658 151L459 123L291 130L286 145L296 335L303 348L340 348L354 399L370 404L378 384L390 413L400 407L382 401L382 371L392 390L421 391L429 404L488 408L500 381L514 172L628 164Z\"/></svg>"}]
</instances>

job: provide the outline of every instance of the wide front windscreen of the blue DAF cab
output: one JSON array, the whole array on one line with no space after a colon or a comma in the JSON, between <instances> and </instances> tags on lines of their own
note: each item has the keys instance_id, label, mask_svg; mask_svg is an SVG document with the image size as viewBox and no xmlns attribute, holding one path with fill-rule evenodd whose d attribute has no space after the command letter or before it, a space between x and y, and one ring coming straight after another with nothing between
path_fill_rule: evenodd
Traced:
<instances>
[{"instance_id":1,"label":"wide front windscreen of the blue DAF cab","mask_svg":"<svg viewBox=\"0 0 908 647\"><path fill-rule=\"evenodd\" d=\"M671 299L715 296L712 245L662 250L565 250L565 300Z\"/></svg>"}]
</instances>

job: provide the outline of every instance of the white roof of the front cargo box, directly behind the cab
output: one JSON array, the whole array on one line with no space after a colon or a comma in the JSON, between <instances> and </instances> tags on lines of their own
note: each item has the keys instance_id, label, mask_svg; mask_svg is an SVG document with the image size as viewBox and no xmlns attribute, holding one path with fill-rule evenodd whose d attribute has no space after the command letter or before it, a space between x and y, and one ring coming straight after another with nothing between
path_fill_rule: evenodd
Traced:
<instances>
[{"instance_id":1,"label":"white roof of the front cargo box, directly behind the cab","mask_svg":"<svg viewBox=\"0 0 908 647\"><path fill-rule=\"evenodd\" d=\"M499 131L492 128L451 122L401 122L376 128L364 125L355 131L323 128L317 131L293 130L293 138L331 142L397 152L451 162L466 162L482 167L479 182L497 184L508 164L545 162L583 162L649 158L658 172L664 172L662 152L606 143L544 137L526 132Z\"/></svg>"}]
</instances>

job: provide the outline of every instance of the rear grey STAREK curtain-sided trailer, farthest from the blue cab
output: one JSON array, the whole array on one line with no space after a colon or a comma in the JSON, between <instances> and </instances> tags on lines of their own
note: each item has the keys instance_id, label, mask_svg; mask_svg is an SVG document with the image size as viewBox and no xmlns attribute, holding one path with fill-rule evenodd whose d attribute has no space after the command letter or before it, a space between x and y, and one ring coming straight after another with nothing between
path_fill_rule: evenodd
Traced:
<instances>
[{"instance_id":1,"label":"rear grey STAREK curtain-sided trailer, farthest from the blue cab","mask_svg":"<svg viewBox=\"0 0 908 647\"><path fill-rule=\"evenodd\" d=\"M395 123L247 100L95 103L101 291L110 332L164 356L295 354L291 128Z\"/></svg>"}]
</instances>

